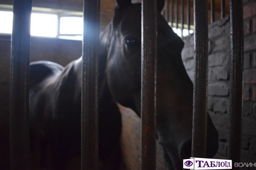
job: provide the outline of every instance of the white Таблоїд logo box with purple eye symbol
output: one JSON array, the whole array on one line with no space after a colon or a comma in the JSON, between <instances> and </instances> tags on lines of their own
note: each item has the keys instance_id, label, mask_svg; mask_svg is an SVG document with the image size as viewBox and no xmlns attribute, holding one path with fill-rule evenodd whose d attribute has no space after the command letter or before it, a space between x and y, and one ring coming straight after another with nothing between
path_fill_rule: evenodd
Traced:
<instances>
[{"instance_id":1,"label":"white \u0422\u0430\u0431\u043b\u043e\u0457\u0434 logo box with purple eye symbol","mask_svg":"<svg viewBox=\"0 0 256 170\"><path fill-rule=\"evenodd\" d=\"M190 170L232 169L232 161L226 159L183 159L183 168Z\"/></svg>"}]
</instances>

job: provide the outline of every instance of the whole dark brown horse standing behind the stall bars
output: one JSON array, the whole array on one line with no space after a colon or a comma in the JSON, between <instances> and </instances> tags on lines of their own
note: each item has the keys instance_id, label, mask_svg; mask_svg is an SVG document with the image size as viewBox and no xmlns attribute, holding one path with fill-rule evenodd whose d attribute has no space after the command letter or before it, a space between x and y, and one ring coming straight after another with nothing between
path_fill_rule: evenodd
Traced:
<instances>
[{"instance_id":1,"label":"whole dark brown horse standing behind the stall bars","mask_svg":"<svg viewBox=\"0 0 256 170\"><path fill-rule=\"evenodd\" d=\"M191 157L193 83L181 60L184 42L160 14L163 6L158 0L157 139L168 169L180 170L182 159ZM116 102L140 116L141 30L141 4L117 0L114 17L100 35L99 159L104 169L121 133ZM53 169L63 170L66 161L80 157L81 67L81 58L65 68L31 63L31 148L33 139L39 138L42 151L49 143ZM217 150L218 132L208 115L207 158Z\"/></svg>"}]
</instances>

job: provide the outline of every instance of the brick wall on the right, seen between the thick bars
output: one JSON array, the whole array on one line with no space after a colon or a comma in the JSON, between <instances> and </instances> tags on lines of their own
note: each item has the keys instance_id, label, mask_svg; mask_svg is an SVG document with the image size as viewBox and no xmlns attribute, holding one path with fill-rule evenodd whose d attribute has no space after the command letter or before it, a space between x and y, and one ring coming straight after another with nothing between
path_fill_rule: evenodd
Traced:
<instances>
[{"instance_id":1,"label":"brick wall on the right, seen between the thick bars","mask_svg":"<svg viewBox=\"0 0 256 170\"><path fill-rule=\"evenodd\" d=\"M209 25L208 112L219 131L216 158L227 157L229 128L229 17ZM244 0L244 108L241 162L256 159L256 0ZM193 81L193 35L184 37L182 60ZM255 168L255 167L251 167ZM245 169L245 167L244 167Z\"/></svg>"}]
</instances>

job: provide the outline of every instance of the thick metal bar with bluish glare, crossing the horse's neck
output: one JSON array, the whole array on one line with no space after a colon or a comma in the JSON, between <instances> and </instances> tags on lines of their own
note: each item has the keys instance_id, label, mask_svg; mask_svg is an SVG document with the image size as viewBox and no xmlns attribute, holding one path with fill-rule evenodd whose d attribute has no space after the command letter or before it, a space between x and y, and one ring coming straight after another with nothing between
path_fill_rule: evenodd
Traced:
<instances>
[{"instance_id":1,"label":"thick metal bar with bluish glare, crossing the horse's neck","mask_svg":"<svg viewBox=\"0 0 256 170\"><path fill-rule=\"evenodd\" d=\"M98 170L98 72L100 0L83 3L81 167Z\"/></svg>"}]
</instances>

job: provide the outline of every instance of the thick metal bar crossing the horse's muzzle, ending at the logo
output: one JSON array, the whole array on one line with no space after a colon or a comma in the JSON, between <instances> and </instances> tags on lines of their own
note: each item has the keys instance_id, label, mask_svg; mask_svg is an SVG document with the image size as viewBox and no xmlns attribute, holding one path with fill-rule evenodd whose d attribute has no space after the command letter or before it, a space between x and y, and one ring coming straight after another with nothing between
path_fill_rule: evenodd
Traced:
<instances>
[{"instance_id":1,"label":"thick metal bar crossing the horse's muzzle, ending at the logo","mask_svg":"<svg viewBox=\"0 0 256 170\"><path fill-rule=\"evenodd\" d=\"M208 88L207 0L194 0L194 92L192 157L206 157Z\"/></svg>"}]
</instances>

